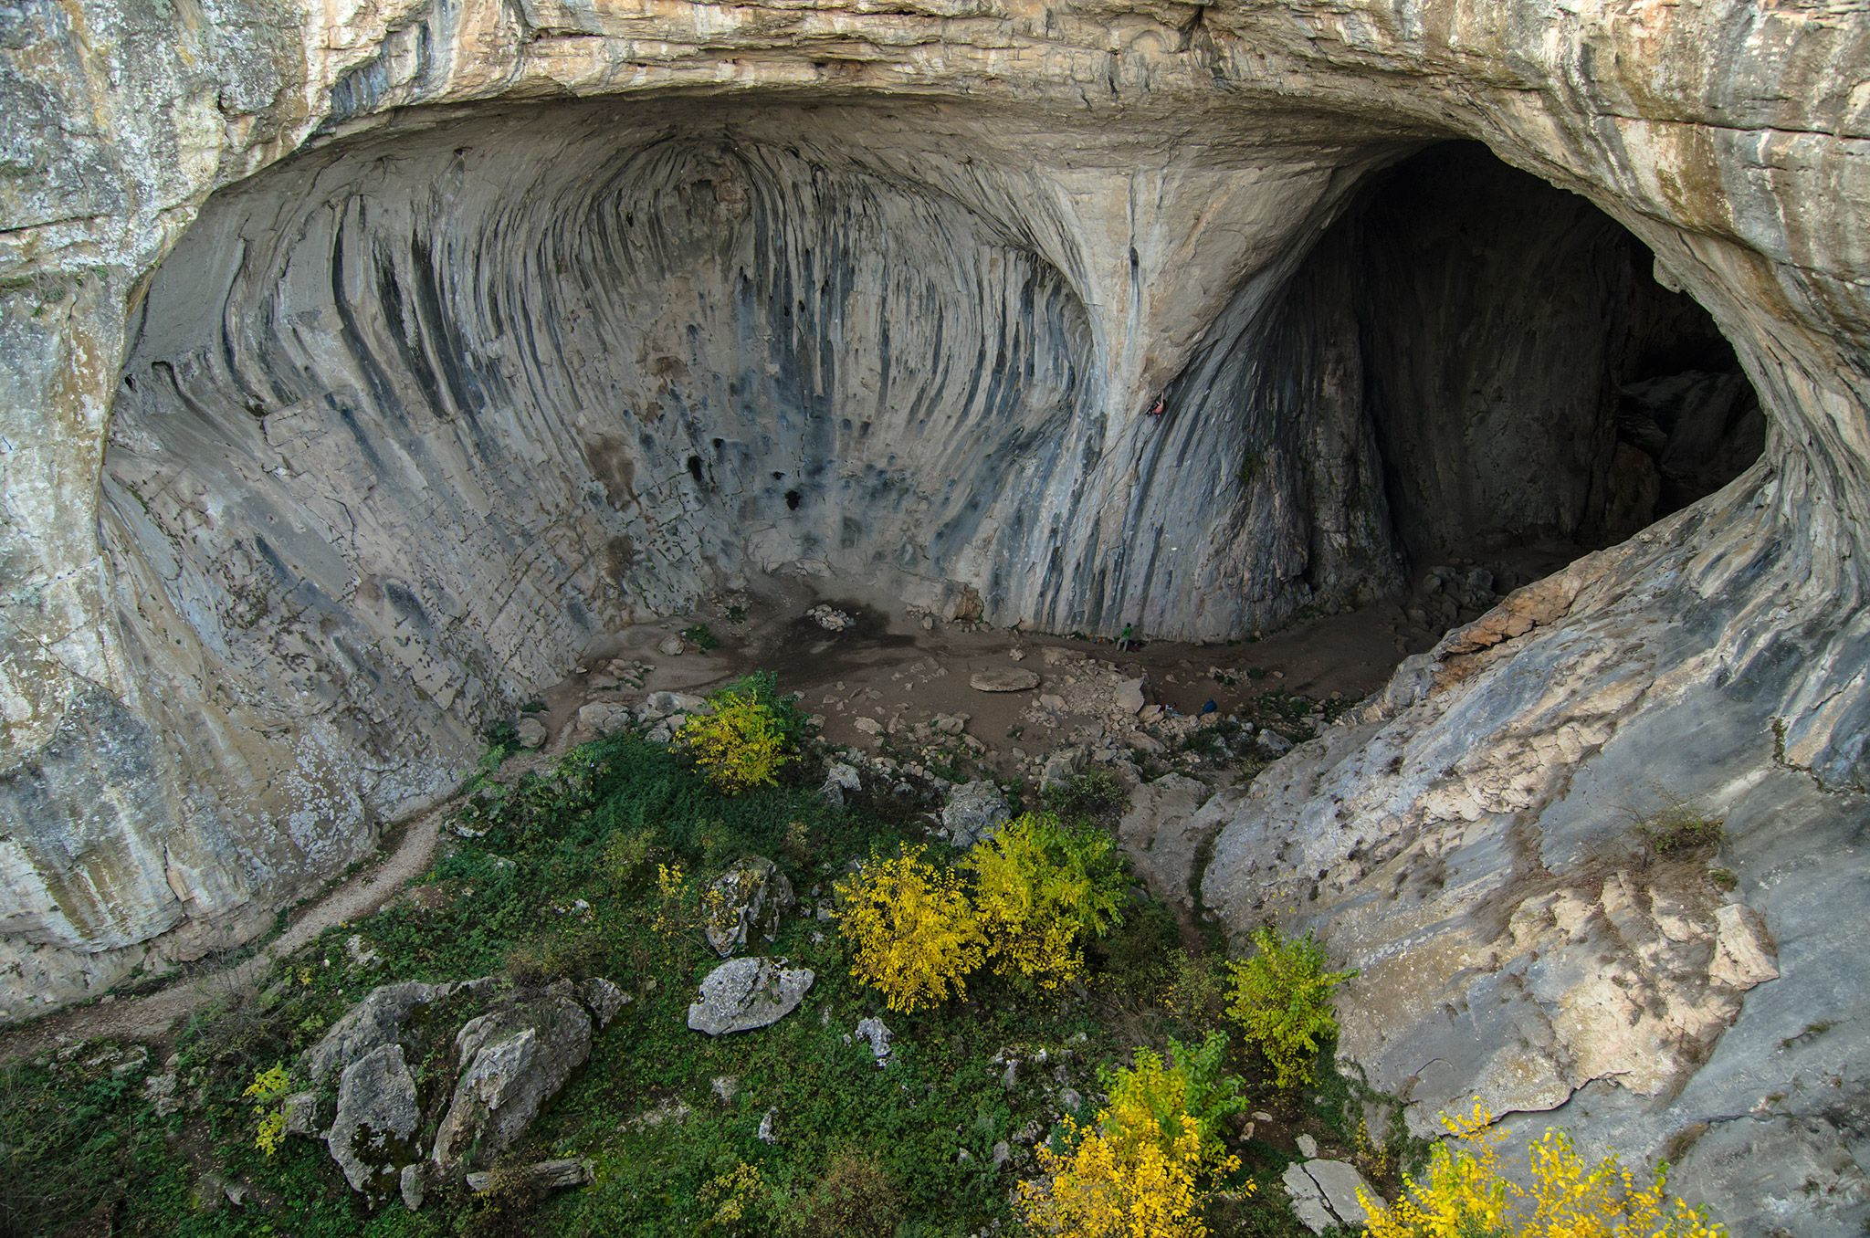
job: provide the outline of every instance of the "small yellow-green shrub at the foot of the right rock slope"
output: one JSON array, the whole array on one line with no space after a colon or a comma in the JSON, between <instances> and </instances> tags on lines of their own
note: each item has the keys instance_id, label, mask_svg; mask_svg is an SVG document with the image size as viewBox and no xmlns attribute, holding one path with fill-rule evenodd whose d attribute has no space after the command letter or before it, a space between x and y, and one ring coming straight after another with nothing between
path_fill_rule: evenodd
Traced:
<instances>
[{"instance_id":1,"label":"small yellow-green shrub at the foot of the right rock slope","mask_svg":"<svg viewBox=\"0 0 1870 1238\"><path fill-rule=\"evenodd\" d=\"M1324 946L1307 931L1287 939L1275 928L1253 933L1253 954L1227 965L1232 972L1227 1017L1273 1068L1275 1085L1311 1083L1318 1045L1337 1036L1331 989L1358 972L1326 971Z\"/></svg>"}]
</instances>

